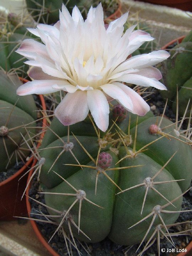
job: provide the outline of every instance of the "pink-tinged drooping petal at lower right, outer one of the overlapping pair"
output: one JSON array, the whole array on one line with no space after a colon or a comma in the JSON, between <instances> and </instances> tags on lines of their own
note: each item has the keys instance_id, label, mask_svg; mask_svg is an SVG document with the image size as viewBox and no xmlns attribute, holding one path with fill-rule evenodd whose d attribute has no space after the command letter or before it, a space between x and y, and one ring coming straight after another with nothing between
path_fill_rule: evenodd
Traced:
<instances>
[{"instance_id":1,"label":"pink-tinged drooping petal at lower right, outer one of the overlapping pair","mask_svg":"<svg viewBox=\"0 0 192 256\"><path fill-rule=\"evenodd\" d=\"M144 116L149 110L149 105L144 101L144 99L130 87L121 84L119 82L114 82L119 88L121 88L132 100L133 110L131 111L133 114L138 114L139 116Z\"/></svg>"}]
</instances>

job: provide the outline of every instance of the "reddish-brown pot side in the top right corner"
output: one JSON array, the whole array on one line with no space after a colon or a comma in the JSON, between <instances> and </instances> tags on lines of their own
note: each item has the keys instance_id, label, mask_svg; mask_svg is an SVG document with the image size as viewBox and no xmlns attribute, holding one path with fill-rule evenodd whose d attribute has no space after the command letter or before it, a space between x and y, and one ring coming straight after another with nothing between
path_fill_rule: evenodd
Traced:
<instances>
[{"instance_id":1,"label":"reddish-brown pot side in the top right corner","mask_svg":"<svg viewBox=\"0 0 192 256\"><path fill-rule=\"evenodd\" d=\"M149 2L150 4L165 5L169 7L174 7L181 9L183 11L192 11L192 1L191 0L140 0L142 2Z\"/></svg>"}]
</instances>

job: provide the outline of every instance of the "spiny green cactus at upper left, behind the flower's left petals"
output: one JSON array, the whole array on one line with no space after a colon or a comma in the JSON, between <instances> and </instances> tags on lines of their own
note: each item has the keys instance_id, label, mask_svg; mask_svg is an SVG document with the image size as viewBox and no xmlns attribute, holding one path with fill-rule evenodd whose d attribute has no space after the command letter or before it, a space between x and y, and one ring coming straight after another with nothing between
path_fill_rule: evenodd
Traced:
<instances>
[{"instance_id":1,"label":"spiny green cactus at upper left, behind the flower's left petals","mask_svg":"<svg viewBox=\"0 0 192 256\"><path fill-rule=\"evenodd\" d=\"M3 12L0 24L0 67L9 73L17 71L22 77L26 77L28 66L23 63L25 59L15 52L22 41L31 36L26 27L31 27L26 20L28 17L20 17L14 13Z\"/></svg>"}]
</instances>

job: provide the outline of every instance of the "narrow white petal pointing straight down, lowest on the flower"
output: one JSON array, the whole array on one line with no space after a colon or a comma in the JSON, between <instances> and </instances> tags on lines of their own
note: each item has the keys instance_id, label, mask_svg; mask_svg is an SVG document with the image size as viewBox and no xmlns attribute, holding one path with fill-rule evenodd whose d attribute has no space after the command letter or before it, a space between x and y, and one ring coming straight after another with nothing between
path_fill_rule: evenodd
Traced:
<instances>
[{"instance_id":1,"label":"narrow white petal pointing straight down, lowest on the flower","mask_svg":"<svg viewBox=\"0 0 192 256\"><path fill-rule=\"evenodd\" d=\"M100 90L87 91L87 103L97 127L105 132L109 126L109 104Z\"/></svg>"}]
</instances>

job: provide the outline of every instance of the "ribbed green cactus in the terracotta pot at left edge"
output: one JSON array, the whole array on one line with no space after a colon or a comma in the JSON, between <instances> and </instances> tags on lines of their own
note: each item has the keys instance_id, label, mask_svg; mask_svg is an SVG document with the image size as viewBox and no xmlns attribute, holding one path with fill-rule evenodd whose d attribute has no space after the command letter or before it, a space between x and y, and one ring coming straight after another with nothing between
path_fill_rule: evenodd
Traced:
<instances>
[{"instance_id":1,"label":"ribbed green cactus in the terracotta pot at left edge","mask_svg":"<svg viewBox=\"0 0 192 256\"><path fill-rule=\"evenodd\" d=\"M32 127L36 126L36 105L31 95L16 95L20 85L17 75L0 71L0 171L6 171L16 161L25 160L30 151L23 137L28 140L28 133L31 137L35 134ZM31 123L31 128L26 126L26 130L28 123Z\"/></svg>"}]
</instances>

